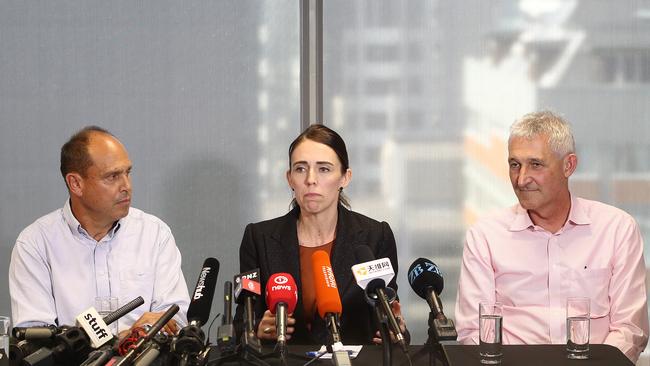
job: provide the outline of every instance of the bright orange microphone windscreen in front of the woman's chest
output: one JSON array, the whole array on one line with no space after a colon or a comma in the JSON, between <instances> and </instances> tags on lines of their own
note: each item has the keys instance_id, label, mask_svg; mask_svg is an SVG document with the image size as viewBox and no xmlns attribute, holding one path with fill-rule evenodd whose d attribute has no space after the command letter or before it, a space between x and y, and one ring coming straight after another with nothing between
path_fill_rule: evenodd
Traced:
<instances>
[{"instance_id":1,"label":"bright orange microphone windscreen in front of the woman's chest","mask_svg":"<svg viewBox=\"0 0 650 366\"><path fill-rule=\"evenodd\" d=\"M314 290L316 291L316 308L318 315L325 318L327 313L340 314L343 311L341 296L336 286L330 257L324 250L317 250L311 255L314 273Z\"/></svg>"}]
</instances>

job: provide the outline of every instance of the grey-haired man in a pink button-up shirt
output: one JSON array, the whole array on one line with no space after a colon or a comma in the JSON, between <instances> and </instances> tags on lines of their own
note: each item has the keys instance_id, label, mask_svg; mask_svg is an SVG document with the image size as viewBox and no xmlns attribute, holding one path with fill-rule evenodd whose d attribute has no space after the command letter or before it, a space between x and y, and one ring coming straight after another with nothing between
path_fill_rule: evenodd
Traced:
<instances>
[{"instance_id":1,"label":"grey-haired man in a pink button-up shirt","mask_svg":"<svg viewBox=\"0 0 650 366\"><path fill-rule=\"evenodd\" d=\"M508 140L519 204L467 232L456 324L478 344L478 303L503 304L504 344L566 343L566 299L591 299L591 343L618 347L636 362L648 342L643 240L615 207L574 197L578 158L571 129L551 112L515 122Z\"/></svg>"}]
</instances>

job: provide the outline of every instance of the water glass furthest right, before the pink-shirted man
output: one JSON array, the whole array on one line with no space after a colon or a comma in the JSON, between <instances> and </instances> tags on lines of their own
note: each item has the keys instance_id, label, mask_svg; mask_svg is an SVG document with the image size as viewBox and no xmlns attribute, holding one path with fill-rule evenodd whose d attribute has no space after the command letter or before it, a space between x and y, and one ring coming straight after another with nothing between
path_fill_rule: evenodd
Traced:
<instances>
[{"instance_id":1,"label":"water glass furthest right, before the pink-shirted man","mask_svg":"<svg viewBox=\"0 0 650 366\"><path fill-rule=\"evenodd\" d=\"M588 297L569 297L566 300L566 350L567 358L585 360L589 358L589 316Z\"/></svg>"}]
</instances>

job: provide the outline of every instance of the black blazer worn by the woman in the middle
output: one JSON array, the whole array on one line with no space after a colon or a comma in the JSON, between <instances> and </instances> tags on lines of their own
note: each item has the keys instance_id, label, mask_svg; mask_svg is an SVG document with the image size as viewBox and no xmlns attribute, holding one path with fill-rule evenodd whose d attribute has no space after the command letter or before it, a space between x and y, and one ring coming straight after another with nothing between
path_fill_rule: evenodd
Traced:
<instances>
[{"instance_id":1,"label":"black blazer worn by the woman in the middle","mask_svg":"<svg viewBox=\"0 0 650 366\"><path fill-rule=\"evenodd\" d=\"M239 248L240 272L259 268L262 292L272 274L290 273L298 285L298 304L294 312L295 331L289 343L328 344L328 330L318 315L312 322L311 332L307 330L304 321L300 294L300 248L296 230L299 213L300 208L296 207L284 216L248 224ZM355 247L360 245L369 246L376 259L390 258L395 278L389 286L397 291L397 248L390 226L386 222L375 221L339 205L336 239L330 258L343 304L340 333L344 344L370 344L377 330L372 308L366 302L363 290L357 286L350 269L357 264L354 253ZM256 326L266 309L266 301L262 295L255 304ZM238 305L234 319L238 335L242 332L243 313L244 306Z\"/></svg>"}]
</instances>

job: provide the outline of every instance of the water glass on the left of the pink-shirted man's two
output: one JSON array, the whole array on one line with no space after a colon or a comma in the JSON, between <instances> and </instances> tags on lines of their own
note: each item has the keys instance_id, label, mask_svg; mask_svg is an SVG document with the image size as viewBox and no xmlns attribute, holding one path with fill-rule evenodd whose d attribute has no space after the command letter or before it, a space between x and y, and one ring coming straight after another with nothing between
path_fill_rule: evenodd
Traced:
<instances>
[{"instance_id":1,"label":"water glass on the left of the pink-shirted man's two","mask_svg":"<svg viewBox=\"0 0 650 366\"><path fill-rule=\"evenodd\" d=\"M501 328L503 326L503 305L499 302L481 302L478 305L479 353L481 363L501 363Z\"/></svg>"}]
</instances>

